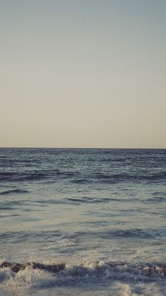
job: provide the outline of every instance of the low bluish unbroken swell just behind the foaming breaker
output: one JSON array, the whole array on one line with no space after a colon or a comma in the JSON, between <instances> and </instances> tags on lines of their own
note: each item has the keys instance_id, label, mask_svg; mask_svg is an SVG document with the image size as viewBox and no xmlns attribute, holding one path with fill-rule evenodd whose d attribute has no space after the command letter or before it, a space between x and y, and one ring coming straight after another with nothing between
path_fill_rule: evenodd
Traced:
<instances>
[{"instance_id":1,"label":"low bluish unbroken swell just behind the foaming breaker","mask_svg":"<svg viewBox=\"0 0 166 296\"><path fill-rule=\"evenodd\" d=\"M94 225L101 225L101 221L94 222ZM104 221L104 223L106 223ZM82 231L82 232L64 232L60 230L50 231L22 231L22 232L1 232L0 240L4 243L16 244L21 242L35 242L49 244L49 242L63 242L63 239L68 239L69 242L73 242L73 239L78 241L79 239L91 238L105 239L106 242L110 239L154 239L158 244L162 242L166 237L165 227L155 229L127 229L127 230L96 230L96 231ZM160 241L160 242L159 242Z\"/></svg>"}]
</instances>

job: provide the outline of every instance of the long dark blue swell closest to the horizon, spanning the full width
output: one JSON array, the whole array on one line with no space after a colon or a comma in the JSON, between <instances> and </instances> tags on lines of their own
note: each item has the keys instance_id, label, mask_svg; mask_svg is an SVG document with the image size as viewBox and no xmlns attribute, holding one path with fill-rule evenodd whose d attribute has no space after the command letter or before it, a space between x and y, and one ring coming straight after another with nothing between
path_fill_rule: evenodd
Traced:
<instances>
[{"instance_id":1,"label":"long dark blue swell closest to the horizon, spanning the full width","mask_svg":"<svg viewBox=\"0 0 166 296\"><path fill-rule=\"evenodd\" d=\"M117 170L120 170L118 168ZM115 184L119 182L155 182L160 180L165 181L166 172L141 172L135 169L133 172L116 172L112 170L110 172L75 172L69 170L18 170L18 171L4 171L0 172L0 181L4 182L56 182L57 179L68 179L69 182L75 184L93 184L93 183L105 183Z\"/></svg>"}]
</instances>

